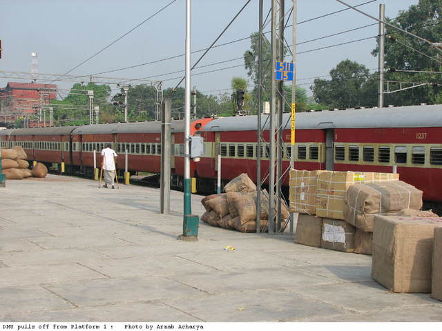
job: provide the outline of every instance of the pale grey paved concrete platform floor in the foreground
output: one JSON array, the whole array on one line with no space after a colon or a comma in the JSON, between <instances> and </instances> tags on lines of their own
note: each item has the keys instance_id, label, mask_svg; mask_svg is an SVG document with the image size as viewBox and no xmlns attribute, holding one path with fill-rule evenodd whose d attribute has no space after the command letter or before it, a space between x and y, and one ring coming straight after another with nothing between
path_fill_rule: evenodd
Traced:
<instances>
[{"instance_id":1,"label":"pale grey paved concrete platform floor in the foreground","mask_svg":"<svg viewBox=\"0 0 442 331\"><path fill-rule=\"evenodd\" d=\"M202 197L192 196L202 215ZM372 257L200 221L183 194L48 175L0 188L0 322L440 322L430 294L390 293ZM235 250L227 251L231 245Z\"/></svg>"}]
</instances>

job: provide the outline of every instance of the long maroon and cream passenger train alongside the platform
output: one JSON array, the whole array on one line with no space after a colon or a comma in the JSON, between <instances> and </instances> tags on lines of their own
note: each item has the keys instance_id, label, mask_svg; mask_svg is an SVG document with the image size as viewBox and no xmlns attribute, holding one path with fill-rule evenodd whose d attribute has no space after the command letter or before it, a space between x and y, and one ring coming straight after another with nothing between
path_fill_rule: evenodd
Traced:
<instances>
[{"instance_id":1,"label":"long maroon and cream passenger train alongside the platform","mask_svg":"<svg viewBox=\"0 0 442 331\"><path fill-rule=\"evenodd\" d=\"M262 115L262 132L269 141L268 115ZM160 172L161 122L113 123L76 127L0 130L1 147L19 145L28 161L64 163L66 172L93 173L93 151L112 142L119 158L117 168L130 172ZM423 190L425 206L442 206L442 105L349 109L296 114L294 164L303 170L397 172L402 181ZM191 135L204 139L199 162L191 161L197 189L216 191L218 154L221 178L230 181L246 172L256 179L256 155L261 168L269 166L269 144L257 150L257 116L196 119ZM289 168L291 121L283 115L282 168ZM171 172L180 188L184 176L184 121L172 121ZM263 173L265 171L262 171ZM264 176L264 174L262 174ZM288 185L288 178L283 180Z\"/></svg>"}]
</instances>

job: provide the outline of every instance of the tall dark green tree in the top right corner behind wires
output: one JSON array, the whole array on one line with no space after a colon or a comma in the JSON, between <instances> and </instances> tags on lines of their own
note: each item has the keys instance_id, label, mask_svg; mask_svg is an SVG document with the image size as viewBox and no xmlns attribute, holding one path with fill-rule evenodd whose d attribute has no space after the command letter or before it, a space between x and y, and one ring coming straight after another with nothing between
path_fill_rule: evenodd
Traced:
<instances>
[{"instance_id":1,"label":"tall dark green tree in the top right corner behind wires","mask_svg":"<svg viewBox=\"0 0 442 331\"><path fill-rule=\"evenodd\" d=\"M442 41L442 12L441 0L420 0L417 5L401 11L396 19L386 21L401 30L419 36L422 41L401 30L385 26L385 69L393 68L394 72L385 73L386 81L400 81L402 88L409 88L412 83L442 83L439 72L442 71L440 49L432 43ZM394 41L395 40L395 41ZM378 54L378 48L373 50ZM407 70L406 72L399 70ZM408 83L406 83L408 82ZM386 90L387 86L384 87ZM399 90L400 83L389 83L389 90ZM415 103L440 103L442 99L441 86L425 85L410 88L401 92L384 94L385 104L413 105Z\"/></svg>"}]
</instances>

